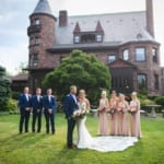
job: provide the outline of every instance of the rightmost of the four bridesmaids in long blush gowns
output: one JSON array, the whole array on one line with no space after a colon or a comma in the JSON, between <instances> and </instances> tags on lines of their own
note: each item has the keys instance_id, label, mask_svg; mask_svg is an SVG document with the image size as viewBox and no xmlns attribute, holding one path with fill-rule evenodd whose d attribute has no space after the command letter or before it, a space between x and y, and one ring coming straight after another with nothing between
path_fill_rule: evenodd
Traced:
<instances>
[{"instance_id":1,"label":"rightmost of the four bridesmaids in long blush gowns","mask_svg":"<svg viewBox=\"0 0 164 164\"><path fill-rule=\"evenodd\" d=\"M137 97L137 93L132 92L130 102L130 113L131 113L131 136L141 137L140 127L140 101Z\"/></svg>"}]
</instances>

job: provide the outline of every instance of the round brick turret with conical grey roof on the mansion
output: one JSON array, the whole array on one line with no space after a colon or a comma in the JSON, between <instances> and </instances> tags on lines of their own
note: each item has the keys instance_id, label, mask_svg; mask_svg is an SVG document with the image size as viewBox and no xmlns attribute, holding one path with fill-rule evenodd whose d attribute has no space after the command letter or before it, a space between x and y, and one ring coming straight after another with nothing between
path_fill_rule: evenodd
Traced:
<instances>
[{"instance_id":1,"label":"round brick turret with conical grey roof on the mansion","mask_svg":"<svg viewBox=\"0 0 164 164\"><path fill-rule=\"evenodd\" d=\"M56 17L52 15L48 0L39 0L30 15L27 35L30 37L28 68L32 89L39 86L39 71L51 69L47 49L55 44Z\"/></svg>"}]
</instances>

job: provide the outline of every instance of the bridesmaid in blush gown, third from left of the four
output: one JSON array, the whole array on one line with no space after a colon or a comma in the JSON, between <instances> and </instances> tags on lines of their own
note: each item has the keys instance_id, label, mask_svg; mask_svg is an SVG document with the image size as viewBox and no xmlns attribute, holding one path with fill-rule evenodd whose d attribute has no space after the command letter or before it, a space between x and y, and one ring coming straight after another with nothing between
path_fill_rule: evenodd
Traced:
<instances>
[{"instance_id":1,"label":"bridesmaid in blush gown, third from left of the four","mask_svg":"<svg viewBox=\"0 0 164 164\"><path fill-rule=\"evenodd\" d=\"M118 102L118 134L119 136L128 136L129 134L129 124L128 124L128 109L129 104L125 99L124 94L119 94L119 102Z\"/></svg>"}]
</instances>

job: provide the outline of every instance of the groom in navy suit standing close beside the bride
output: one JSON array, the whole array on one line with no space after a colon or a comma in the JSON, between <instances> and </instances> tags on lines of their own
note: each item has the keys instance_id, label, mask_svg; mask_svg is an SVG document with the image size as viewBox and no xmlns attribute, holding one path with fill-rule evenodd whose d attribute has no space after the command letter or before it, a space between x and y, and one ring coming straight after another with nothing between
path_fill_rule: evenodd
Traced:
<instances>
[{"instance_id":1,"label":"groom in navy suit standing close beside the bride","mask_svg":"<svg viewBox=\"0 0 164 164\"><path fill-rule=\"evenodd\" d=\"M63 108L66 118L68 121L68 131L67 131L67 145L69 149L75 148L72 142L73 129L75 126L75 120L72 118L73 112L78 109L78 99L77 99L77 86L70 86L70 94L65 98Z\"/></svg>"}]
</instances>

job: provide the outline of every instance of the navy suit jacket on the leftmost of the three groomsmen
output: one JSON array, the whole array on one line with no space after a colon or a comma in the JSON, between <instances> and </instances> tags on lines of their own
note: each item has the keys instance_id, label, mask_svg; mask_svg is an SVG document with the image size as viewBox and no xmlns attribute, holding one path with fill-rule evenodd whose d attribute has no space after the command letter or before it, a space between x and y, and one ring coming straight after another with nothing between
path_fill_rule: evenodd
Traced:
<instances>
[{"instance_id":1,"label":"navy suit jacket on the leftmost of the three groomsmen","mask_svg":"<svg viewBox=\"0 0 164 164\"><path fill-rule=\"evenodd\" d=\"M21 108L21 113L25 112L25 108L31 107L31 95L28 95L28 99L25 94L21 94L19 98L19 106Z\"/></svg>"}]
</instances>

